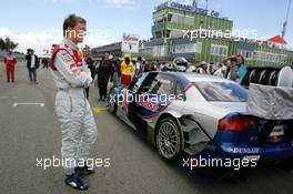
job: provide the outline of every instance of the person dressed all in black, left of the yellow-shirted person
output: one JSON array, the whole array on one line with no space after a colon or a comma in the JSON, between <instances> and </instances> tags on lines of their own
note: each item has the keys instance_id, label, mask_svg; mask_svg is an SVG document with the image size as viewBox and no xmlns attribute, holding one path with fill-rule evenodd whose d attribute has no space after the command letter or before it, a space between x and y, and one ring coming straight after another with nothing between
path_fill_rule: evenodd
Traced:
<instances>
[{"instance_id":1,"label":"person dressed all in black, left of the yellow-shirted person","mask_svg":"<svg viewBox=\"0 0 293 194\"><path fill-rule=\"evenodd\" d=\"M109 59L109 53L105 53L98 68L98 86L100 93L99 101L105 101L107 99L108 83L112 73L113 62Z\"/></svg>"}]
</instances>

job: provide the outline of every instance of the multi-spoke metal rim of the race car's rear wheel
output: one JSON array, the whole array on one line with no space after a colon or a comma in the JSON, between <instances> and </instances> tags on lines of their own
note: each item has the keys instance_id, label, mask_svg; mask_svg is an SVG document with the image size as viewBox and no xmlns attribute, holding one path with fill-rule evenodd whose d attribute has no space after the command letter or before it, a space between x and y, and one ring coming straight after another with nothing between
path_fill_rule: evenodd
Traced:
<instances>
[{"instance_id":1,"label":"multi-spoke metal rim of the race car's rear wheel","mask_svg":"<svg viewBox=\"0 0 293 194\"><path fill-rule=\"evenodd\" d=\"M162 124L159 130L158 139L162 155L166 159L173 157L178 151L178 133L174 125L171 123Z\"/></svg>"}]
</instances>

